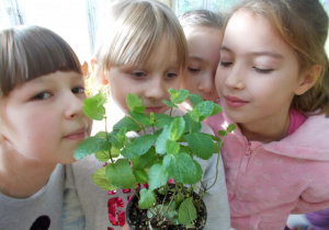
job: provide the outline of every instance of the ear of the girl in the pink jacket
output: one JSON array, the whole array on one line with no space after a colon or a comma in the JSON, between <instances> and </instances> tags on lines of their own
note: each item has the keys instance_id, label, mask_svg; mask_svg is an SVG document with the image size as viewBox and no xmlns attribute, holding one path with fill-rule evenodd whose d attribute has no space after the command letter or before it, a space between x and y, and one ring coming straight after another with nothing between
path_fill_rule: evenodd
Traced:
<instances>
[{"instance_id":1,"label":"ear of the girl in the pink jacket","mask_svg":"<svg viewBox=\"0 0 329 230\"><path fill-rule=\"evenodd\" d=\"M321 73L321 66L320 65L314 65L308 70L305 70L303 72L303 76L300 77L300 83L298 88L295 90L296 95L302 95L307 90L313 88L313 85L317 82L320 73Z\"/></svg>"}]
</instances>

